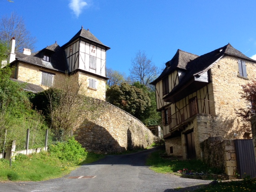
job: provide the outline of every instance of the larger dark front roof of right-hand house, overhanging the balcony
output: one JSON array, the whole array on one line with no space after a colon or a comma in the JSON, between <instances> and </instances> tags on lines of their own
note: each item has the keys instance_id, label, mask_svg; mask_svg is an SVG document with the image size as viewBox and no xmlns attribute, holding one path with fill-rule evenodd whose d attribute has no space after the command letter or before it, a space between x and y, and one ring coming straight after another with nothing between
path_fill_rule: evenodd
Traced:
<instances>
[{"instance_id":1,"label":"larger dark front roof of right-hand house, overhanging the balcony","mask_svg":"<svg viewBox=\"0 0 256 192\"><path fill-rule=\"evenodd\" d=\"M241 58L243 60L248 60L250 62L256 62L255 60L248 58L247 56L242 54L240 51L236 50L234 47L231 46L231 44L228 43L226 46L223 46L212 52L201 55L195 58L194 60L191 60L190 62L188 62L186 64L186 75L184 76L184 78L182 78L181 82L179 82L179 84L175 86L172 89L172 91L164 98L170 97L170 95L174 94L176 91L182 88L182 86L184 86L190 80L192 80L192 78L194 78L196 74L200 72L204 73L208 71L211 65L214 64L214 62L216 62L219 58L221 58L224 55Z\"/></svg>"}]
</instances>

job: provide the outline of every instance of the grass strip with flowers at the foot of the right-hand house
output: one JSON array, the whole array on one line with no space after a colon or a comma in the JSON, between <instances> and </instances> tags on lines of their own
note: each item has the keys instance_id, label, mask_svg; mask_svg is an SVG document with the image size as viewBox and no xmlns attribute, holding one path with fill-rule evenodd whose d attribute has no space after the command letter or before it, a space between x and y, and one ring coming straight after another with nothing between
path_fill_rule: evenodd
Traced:
<instances>
[{"instance_id":1,"label":"grass strip with flowers at the foot of the right-hand house","mask_svg":"<svg viewBox=\"0 0 256 192\"><path fill-rule=\"evenodd\" d=\"M200 160L181 160L180 158L162 158L164 150L158 150L150 154L146 164L150 169L158 173L177 173L177 171L193 172L193 173L221 173L220 170L209 168ZM181 175L181 174L180 174Z\"/></svg>"}]
</instances>

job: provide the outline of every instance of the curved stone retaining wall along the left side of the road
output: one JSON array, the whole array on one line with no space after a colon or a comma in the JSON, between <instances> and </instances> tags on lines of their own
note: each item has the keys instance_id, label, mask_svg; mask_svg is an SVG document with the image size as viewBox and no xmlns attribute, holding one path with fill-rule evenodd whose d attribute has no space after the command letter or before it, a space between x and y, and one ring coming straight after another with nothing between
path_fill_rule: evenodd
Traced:
<instances>
[{"instance_id":1,"label":"curved stone retaining wall along the left side of the road","mask_svg":"<svg viewBox=\"0 0 256 192\"><path fill-rule=\"evenodd\" d=\"M81 111L74 135L88 151L111 153L146 148L157 138L140 120L108 102L91 99L86 105L93 109Z\"/></svg>"}]
</instances>

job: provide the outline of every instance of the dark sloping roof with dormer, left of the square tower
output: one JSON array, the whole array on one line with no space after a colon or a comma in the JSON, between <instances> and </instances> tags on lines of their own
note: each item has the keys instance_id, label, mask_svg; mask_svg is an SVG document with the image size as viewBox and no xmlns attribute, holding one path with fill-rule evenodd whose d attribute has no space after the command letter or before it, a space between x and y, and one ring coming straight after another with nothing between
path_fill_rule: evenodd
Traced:
<instances>
[{"instance_id":1,"label":"dark sloping roof with dormer, left of the square tower","mask_svg":"<svg viewBox=\"0 0 256 192\"><path fill-rule=\"evenodd\" d=\"M49 52L49 50L52 54L50 62L47 62L42 58L44 53ZM56 42L38 52L32 53L31 55L25 55L22 53L16 54L16 58L18 61L27 62L60 72L66 72L69 70L65 52Z\"/></svg>"}]
</instances>

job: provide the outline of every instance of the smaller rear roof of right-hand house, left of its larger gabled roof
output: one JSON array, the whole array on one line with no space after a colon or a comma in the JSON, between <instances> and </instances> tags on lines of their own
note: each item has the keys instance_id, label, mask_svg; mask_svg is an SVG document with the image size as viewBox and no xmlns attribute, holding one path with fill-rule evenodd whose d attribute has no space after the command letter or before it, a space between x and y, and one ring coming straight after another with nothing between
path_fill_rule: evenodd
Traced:
<instances>
[{"instance_id":1,"label":"smaller rear roof of right-hand house, left of its larger gabled roof","mask_svg":"<svg viewBox=\"0 0 256 192\"><path fill-rule=\"evenodd\" d=\"M198 55L178 49L173 58L170 61L166 62L166 68L164 69L164 71L160 74L158 78L156 78L156 80L154 80L150 84L155 85L164 76L172 73L174 70L177 70L177 68L181 70L186 70L186 65L188 64L188 62L194 60L197 57Z\"/></svg>"}]
</instances>

